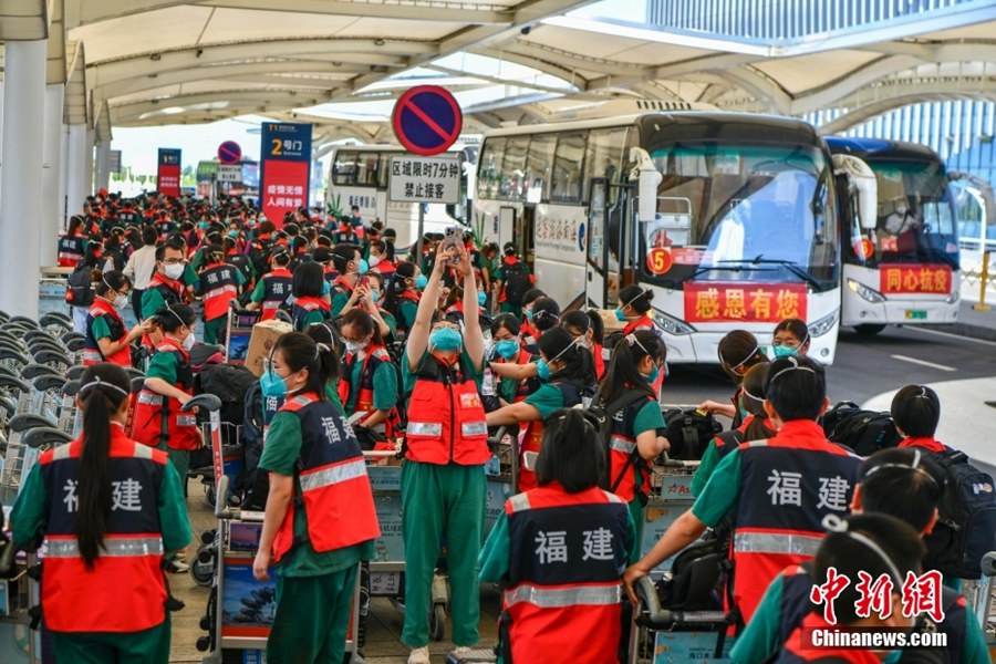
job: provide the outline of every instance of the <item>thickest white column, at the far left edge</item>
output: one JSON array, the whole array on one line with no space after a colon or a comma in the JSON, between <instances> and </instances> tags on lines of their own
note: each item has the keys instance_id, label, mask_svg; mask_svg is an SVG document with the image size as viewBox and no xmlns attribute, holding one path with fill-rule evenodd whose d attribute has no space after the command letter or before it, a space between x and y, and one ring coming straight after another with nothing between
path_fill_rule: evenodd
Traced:
<instances>
[{"instance_id":1,"label":"thickest white column, at the far left edge","mask_svg":"<svg viewBox=\"0 0 996 664\"><path fill-rule=\"evenodd\" d=\"M0 310L37 317L46 42L8 41L3 48Z\"/></svg>"}]
</instances>

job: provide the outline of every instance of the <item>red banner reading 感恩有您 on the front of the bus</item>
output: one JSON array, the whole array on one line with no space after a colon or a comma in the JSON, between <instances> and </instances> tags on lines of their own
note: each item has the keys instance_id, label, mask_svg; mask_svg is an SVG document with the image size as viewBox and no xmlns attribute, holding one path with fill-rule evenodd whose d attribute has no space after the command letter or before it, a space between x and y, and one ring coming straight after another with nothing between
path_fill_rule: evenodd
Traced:
<instances>
[{"instance_id":1,"label":"red banner reading \u611f\u6069\u6709\u60a8 on the front of the bus","mask_svg":"<svg viewBox=\"0 0 996 664\"><path fill-rule=\"evenodd\" d=\"M806 320L806 286L801 283L685 283L685 320L689 323L777 323Z\"/></svg>"}]
</instances>

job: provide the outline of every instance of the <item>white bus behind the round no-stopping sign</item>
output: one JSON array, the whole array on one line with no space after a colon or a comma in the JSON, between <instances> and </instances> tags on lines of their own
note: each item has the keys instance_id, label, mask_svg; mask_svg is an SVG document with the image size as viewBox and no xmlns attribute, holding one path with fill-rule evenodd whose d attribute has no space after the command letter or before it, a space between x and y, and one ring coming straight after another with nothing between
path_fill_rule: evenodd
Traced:
<instances>
[{"instance_id":1,"label":"white bus behind the round no-stopping sign","mask_svg":"<svg viewBox=\"0 0 996 664\"><path fill-rule=\"evenodd\" d=\"M477 145L469 141L438 155L457 160L460 169L460 203L456 205L424 204L424 231L444 232L455 225L467 225L469 196L474 177ZM418 205L388 200L392 157L414 157L398 145L350 145L332 151L325 205L335 215L349 216L355 205L367 224L375 220L397 231L398 248L409 247L418 239Z\"/></svg>"}]
</instances>

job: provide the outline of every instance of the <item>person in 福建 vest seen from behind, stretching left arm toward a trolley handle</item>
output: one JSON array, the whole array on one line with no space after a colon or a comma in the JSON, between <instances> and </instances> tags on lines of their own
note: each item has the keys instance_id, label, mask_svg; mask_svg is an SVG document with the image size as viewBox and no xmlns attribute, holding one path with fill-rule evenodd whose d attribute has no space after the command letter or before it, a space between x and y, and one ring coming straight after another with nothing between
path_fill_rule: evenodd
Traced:
<instances>
[{"instance_id":1,"label":"person in \u798f\u5efa vest seen from behind, stretching left arm toward a trolley handle","mask_svg":"<svg viewBox=\"0 0 996 664\"><path fill-rule=\"evenodd\" d=\"M823 366L809 357L780 357L771 363L765 394L778 435L726 455L692 509L626 570L634 603L640 577L733 516L732 619L749 622L778 572L816 554L823 517L848 511L861 457L827 440L816 422L829 404Z\"/></svg>"}]
</instances>

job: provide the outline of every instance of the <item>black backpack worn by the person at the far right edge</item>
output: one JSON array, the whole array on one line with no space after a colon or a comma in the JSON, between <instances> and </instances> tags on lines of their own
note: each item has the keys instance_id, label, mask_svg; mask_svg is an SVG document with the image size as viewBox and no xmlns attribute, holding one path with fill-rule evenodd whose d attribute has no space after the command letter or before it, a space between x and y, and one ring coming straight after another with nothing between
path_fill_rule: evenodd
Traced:
<instances>
[{"instance_id":1,"label":"black backpack worn by the person at the far right edge","mask_svg":"<svg viewBox=\"0 0 996 664\"><path fill-rule=\"evenodd\" d=\"M993 477L957 449L934 455L947 476L937 523L925 539L924 569L958 579L978 579L982 557L996 544L996 494Z\"/></svg>"}]
</instances>

